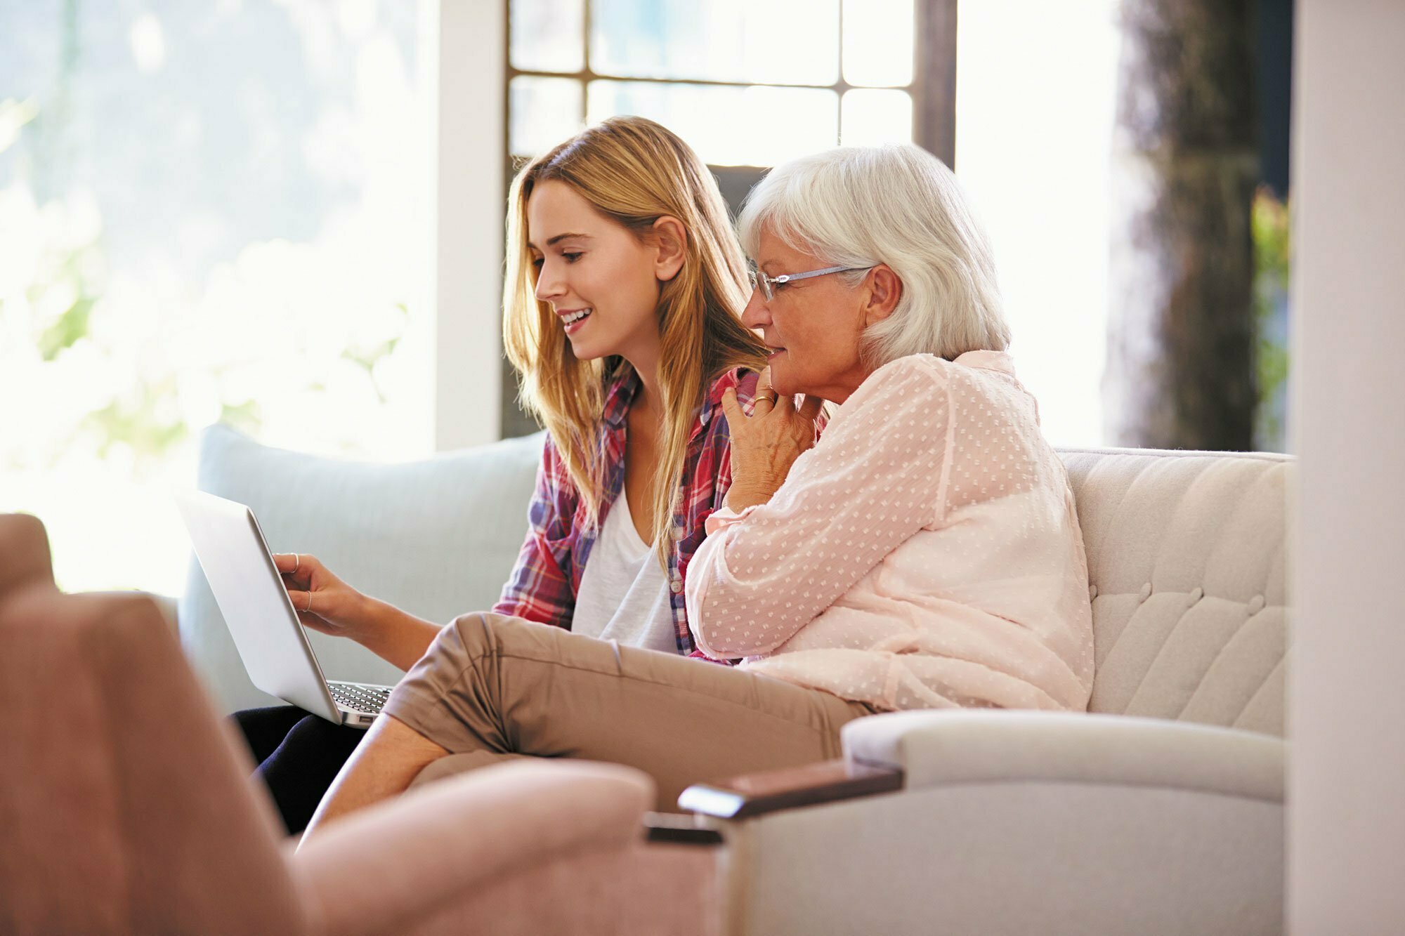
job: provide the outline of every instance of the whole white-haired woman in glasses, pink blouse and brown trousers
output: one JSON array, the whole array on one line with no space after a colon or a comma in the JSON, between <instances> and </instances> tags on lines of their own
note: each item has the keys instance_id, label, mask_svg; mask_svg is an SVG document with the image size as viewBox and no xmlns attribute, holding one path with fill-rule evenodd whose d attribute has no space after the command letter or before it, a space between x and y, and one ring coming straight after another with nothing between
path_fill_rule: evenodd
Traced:
<instances>
[{"instance_id":1,"label":"whole white-haired woman in glasses, pink blouse and brown trousers","mask_svg":"<svg viewBox=\"0 0 1405 936\"><path fill-rule=\"evenodd\" d=\"M504 758L632 765L667 810L690 783L835 758L840 727L877 711L1087 704L1073 500L951 173L913 146L801 159L760 183L742 233L743 322L773 353L750 413L724 396L733 483L677 586L697 645L746 659L465 614L308 835ZM837 410L816 444L822 401Z\"/></svg>"}]
</instances>

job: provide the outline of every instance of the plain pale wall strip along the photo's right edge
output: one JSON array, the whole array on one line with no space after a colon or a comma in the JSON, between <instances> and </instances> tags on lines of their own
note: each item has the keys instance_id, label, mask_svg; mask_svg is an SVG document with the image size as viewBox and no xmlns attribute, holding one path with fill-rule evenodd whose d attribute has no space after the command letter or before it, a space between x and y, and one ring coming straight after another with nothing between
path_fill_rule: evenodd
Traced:
<instances>
[{"instance_id":1,"label":"plain pale wall strip along the photo's right edge","mask_svg":"<svg viewBox=\"0 0 1405 936\"><path fill-rule=\"evenodd\" d=\"M1405 932L1405 3L1298 0L1288 922Z\"/></svg>"}]
</instances>

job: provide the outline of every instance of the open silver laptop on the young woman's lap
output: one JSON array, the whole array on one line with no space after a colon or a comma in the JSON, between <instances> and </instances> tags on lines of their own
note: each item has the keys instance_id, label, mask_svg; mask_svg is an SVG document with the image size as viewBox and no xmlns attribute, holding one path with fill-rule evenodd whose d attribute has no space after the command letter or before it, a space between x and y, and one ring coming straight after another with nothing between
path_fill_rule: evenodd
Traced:
<instances>
[{"instance_id":1,"label":"open silver laptop on the young woman's lap","mask_svg":"<svg viewBox=\"0 0 1405 936\"><path fill-rule=\"evenodd\" d=\"M322 675L253 510L204 490L177 490L176 506L253 684L327 721L368 728L392 687Z\"/></svg>"}]
</instances>

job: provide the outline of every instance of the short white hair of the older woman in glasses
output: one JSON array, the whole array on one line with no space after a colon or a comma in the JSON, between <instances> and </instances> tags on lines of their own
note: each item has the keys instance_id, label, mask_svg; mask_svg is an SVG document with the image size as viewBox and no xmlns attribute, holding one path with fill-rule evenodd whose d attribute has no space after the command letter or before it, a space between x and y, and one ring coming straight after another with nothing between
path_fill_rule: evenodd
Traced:
<instances>
[{"instance_id":1,"label":"short white hair of the older woman in glasses","mask_svg":"<svg viewBox=\"0 0 1405 936\"><path fill-rule=\"evenodd\" d=\"M739 225L753 257L769 229L825 266L892 268L902 297L864 332L871 367L1010 343L985 230L951 170L912 143L842 146L777 166L747 195ZM839 275L857 285L865 273Z\"/></svg>"}]
</instances>

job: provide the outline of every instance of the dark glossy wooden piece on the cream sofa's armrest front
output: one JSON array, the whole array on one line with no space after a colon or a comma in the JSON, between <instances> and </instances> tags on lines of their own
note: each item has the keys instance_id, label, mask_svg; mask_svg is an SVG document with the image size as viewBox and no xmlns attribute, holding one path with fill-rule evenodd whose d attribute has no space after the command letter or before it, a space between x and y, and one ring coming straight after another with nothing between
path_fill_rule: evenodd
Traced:
<instances>
[{"instance_id":1,"label":"dark glossy wooden piece on the cream sofa's armrest front","mask_svg":"<svg viewBox=\"0 0 1405 936\"><path fill-rule=\"evenodd\" d=\"M693 784L679 797L679 805L722 819L745 819L901 788L902 770L839 759L749 773L722 783Z\"/></svg>"}]
</instances>

